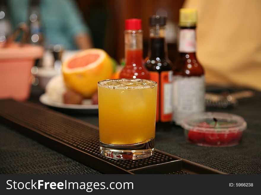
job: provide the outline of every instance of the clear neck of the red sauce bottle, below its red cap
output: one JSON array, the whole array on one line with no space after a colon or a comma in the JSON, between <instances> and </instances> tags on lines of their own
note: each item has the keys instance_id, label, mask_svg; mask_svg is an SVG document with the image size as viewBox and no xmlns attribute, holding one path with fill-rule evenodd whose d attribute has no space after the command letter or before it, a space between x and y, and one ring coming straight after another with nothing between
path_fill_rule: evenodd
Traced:
<instances>
[{"instance_id":1,"label":"clear neck of the red sauce bottle, below its red cap","mask_svg":"<svg viewBox=\"0 0 261 195\"><path fill-rule=\"evenodd\" d=\"M126 66L141 66L143 61L142 30L125 30L125 61Z\"/></svg>"}]
</instances>

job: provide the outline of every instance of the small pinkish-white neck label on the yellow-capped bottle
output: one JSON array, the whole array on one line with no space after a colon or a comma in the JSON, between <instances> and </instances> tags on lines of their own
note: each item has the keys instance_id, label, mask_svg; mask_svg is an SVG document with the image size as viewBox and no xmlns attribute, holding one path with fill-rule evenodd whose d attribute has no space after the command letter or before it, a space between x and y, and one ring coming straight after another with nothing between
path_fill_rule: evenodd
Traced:
<instances>
[{"instance_id":1,"label":"small pinkish-white neck label on the yellow-capped bottle","mask_svg":"<svg viewBox=\"0 0 261 195\"><path fill-rule=\"evenodd\" d=\"M180 29L179 31L179 52L193 53L196 51L195 29Z\"/></svg>"}]
</instances>

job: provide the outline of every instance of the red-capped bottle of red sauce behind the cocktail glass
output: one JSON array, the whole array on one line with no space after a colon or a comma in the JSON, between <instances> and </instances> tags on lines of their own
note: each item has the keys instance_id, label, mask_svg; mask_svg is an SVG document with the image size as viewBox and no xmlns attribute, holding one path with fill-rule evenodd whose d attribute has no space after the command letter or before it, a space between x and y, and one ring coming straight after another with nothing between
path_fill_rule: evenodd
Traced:
<instances>
[{"instance_id":1,"label":"red-capped bottle of red sauce behind the cocktail glass","mask_svg":"<svg viewBox=\"0 0 261 195\"><path fill-rule=\"evenodd\" d=\"M125 20L125 61L120 78L149 79L149 72L143 65L143 32L141 19Z\"/></svg>"}]
</instances>

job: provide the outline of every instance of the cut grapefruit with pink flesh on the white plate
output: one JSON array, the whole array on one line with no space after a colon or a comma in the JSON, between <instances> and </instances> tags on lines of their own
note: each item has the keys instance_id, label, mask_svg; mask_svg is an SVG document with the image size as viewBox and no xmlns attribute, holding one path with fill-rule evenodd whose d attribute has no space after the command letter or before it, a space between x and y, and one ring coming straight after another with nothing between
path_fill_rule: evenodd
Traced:
<instances>
[{"instance_id":1,"label":"cut grapefruit with pink flesh on the white plate","mask_svg":"<svg viewBox=\"0 0 261 195\"><path fill-rule=\"evenodd\" d=\"M97 82L113 74L113 62L102 49L87 49L63 62L62 72L66 86L90 98L97 91Z\"/></svg>"}]
</instances>

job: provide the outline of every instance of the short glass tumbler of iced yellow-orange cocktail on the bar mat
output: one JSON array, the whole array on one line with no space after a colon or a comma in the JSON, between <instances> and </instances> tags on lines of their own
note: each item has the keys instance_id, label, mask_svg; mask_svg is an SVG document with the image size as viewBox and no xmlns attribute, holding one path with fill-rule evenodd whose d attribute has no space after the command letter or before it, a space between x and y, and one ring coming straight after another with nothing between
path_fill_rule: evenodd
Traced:
<instances>
[{"instance_id":1,"label":"short glass tumbler of iced yellow-orange cocktail on the bar mat","mask_svg":"<svg viewBox=\"0 0 261 195\"><path fill-rule=\"evenodd\" d=\"M111 158L152 155L157 83L142 79L98 82L100 150Z\"/></svg>"}]
</instances>

